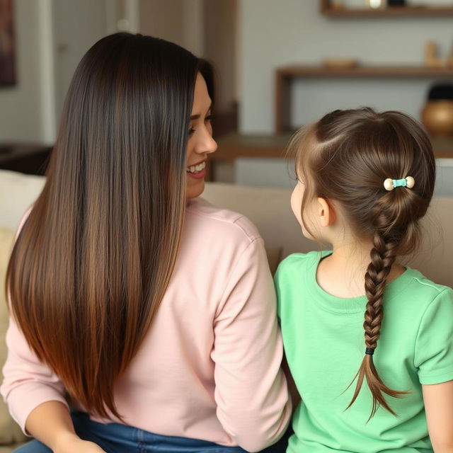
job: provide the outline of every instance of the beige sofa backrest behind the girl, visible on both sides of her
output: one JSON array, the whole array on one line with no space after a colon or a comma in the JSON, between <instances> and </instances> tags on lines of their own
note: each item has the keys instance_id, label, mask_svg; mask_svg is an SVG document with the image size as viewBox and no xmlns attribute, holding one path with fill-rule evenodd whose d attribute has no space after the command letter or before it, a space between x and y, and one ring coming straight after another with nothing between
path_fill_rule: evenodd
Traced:
<instances>
[{"instance_id":1,"label":"beige sofa backrest behind the girl, visible on both sides of her","mask_svg":"<svg viewBox=\"0 0 453 453\"><path fill-rule=\"evenodd\" d=\"M267 248L282 248L282 258L318 247L302 235L289 205L289 189L207 183L202 196L214 205L245 214L258 227ZM422 221L420 248L413 257L403 260L430 280L450 287L453 287L452 224L453 197L435 197Z\"/></svg>"}]
</instances>

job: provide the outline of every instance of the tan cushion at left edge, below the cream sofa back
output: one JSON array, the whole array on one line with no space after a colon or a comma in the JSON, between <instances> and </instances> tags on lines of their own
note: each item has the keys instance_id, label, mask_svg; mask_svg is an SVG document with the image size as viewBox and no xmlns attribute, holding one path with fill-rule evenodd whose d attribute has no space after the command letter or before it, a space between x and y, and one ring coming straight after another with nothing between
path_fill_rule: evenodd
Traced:
<instances>
[{"instance_id":1,"label":"tan cushion at left edge, below the cream sofa back","mask_svg":"<svg viewBox=\"0 0 453 453\"><path fill-rule=\"evenodd\" d=\"M8 328L8 308L6 306L4 294L4 281L6 266L8 265L8 258L11 253L13 241L14 231L0 229L0 368L3 367L6 360L6 344L4 339L6 329ZM11 418L6 404L3 399L0 398L0 445L8 445L22 440L25 440L25 436L23 435L21 428L19 428L16 422Z\"/></svg>"}]
</instances>

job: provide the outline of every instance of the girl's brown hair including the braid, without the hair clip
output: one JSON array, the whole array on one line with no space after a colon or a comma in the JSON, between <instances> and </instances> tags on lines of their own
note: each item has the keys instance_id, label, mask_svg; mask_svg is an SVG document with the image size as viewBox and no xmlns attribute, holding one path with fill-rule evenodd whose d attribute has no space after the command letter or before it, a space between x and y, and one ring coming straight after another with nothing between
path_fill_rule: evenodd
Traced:
<instances>
[{"instance_id":1,"label":"girl's brown hair including the braid, without the hair clip","mask_svg":"<svg viewBox=\"0 0 453 453\"><path fill-rule=\"evenodd\" d=\"M435 183L435 159L427 134L403 113L376 113L370 108L336 110L301 130L289 147L296 155L297 173L305 181L304 206L314 197L335 200L360 239L372 241L365 274L365 354L348 408L366 379L374 416L379 406L394 414L384 394L390 389L374 366L373 352L384 316L384 289L397 255L412 253L419 239L418 220L430 205ZM412 176L413 188L387 191L386 178ZM302 215L302 219L303 219ZM309 231L309 227L305 225Z\"/></svg>"}]
</instances>

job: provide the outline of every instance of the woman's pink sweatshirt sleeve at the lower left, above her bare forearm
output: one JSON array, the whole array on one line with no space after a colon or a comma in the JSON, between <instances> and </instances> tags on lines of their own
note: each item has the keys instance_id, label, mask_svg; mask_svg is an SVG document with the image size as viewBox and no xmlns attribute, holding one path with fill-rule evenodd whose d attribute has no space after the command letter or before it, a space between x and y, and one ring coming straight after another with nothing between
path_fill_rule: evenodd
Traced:
<instances>
[{"instance_id":1,"label":"woman's pink sweatshirt sleeve at the lower left, above her bare forearm","mask_svg":"<svg viewBox=\"0 0 453 453\"><path fill-rule=\"evenodd\" d=\"M12 317L6 332L6 345L8 357L3 368L4 381L0 393L11 416L25 435L28 435L25 422L33 409L47 401L61 401L67 406L64 387L59 378L29 348Z\"/></svg>"}]
</instances>

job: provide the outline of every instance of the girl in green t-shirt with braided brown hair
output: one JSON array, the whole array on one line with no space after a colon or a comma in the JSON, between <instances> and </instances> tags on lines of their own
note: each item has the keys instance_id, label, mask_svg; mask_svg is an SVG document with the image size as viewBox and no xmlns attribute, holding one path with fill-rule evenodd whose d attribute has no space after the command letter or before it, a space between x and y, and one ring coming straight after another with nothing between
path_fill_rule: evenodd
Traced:
<instances>
[{"instance_id":1,"label":"girl in green t-shirt with braided brown hair","mask_svg":"<svg viewBox=\"0 0 453 453\"><path fill-rule=\"evenodd\" d=\"M453 452L453 292L396 262L432 197L430 140L403 113L363 108L290 149L294 215L333 251L289 256L275 277L302 397L287 451Z\"/></svg>"}]
</instances>

